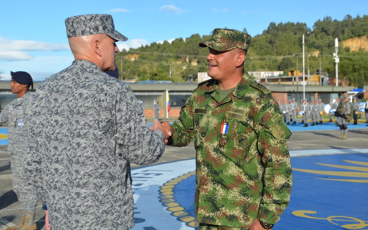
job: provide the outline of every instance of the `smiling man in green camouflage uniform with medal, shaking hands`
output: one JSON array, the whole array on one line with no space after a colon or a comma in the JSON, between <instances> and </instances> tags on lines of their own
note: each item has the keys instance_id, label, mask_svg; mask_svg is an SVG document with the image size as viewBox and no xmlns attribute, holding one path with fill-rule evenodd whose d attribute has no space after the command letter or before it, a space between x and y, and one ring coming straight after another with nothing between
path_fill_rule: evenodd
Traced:
<instances>
[{"instance_id":1,"label":"smiling man in green camouflage uniform with medal, shaking hands","mask_svg":"<svg viewBox=\"0 0 368 230\"><path fill-rule=\"evenodd\" d=\"M200 43L213 79L198 85L171 127L163 123L170 145L194 139L200 230L271 229L289 204L291 132L272 93L243 72L250 39L215 29Z\"/></svg>"}]
</instances>

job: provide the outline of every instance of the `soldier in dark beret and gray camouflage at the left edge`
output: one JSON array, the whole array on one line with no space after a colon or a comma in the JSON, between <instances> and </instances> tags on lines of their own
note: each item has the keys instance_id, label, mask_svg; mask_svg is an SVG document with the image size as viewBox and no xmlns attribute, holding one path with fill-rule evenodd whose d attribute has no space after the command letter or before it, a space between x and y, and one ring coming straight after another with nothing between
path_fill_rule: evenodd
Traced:
<instances>
[{"instance_id":1,"label":"soldier in dark beret and gray camouflage at the left edge","mask_svg":"<svg viewBox=\"0 0 368 230\"><path fill-rule=\"evenodd\" d=\"M11 154L11 174L13 176L13 191L17 194L18 200L22 204L23 216L21 221L14 227L7 230L36 229L35 212L37 206L37 190L33 185L28 184L28 180L23 170L23 156L26 151L28 141L29 124L27 116L31 112L33 96L28 92L33 80L28 72L10 72L11 92L17 94L9 105L5 106L0 113L0 125L9 122L8 125L8 153Z\"/></svg>"}]
</instances>

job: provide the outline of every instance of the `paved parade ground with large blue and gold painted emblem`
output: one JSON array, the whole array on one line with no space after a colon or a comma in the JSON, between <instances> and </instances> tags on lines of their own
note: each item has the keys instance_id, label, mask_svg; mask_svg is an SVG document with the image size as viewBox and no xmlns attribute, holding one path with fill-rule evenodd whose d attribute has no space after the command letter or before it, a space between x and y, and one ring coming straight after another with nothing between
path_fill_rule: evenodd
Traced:
<instances>
[{"instance_id":1,"label":"paved parade ground with large blue and gold painted emblem","mask_svg":"<svg viewBox=\"0 0 368 230\"><path fill-rule=\"evenodd\" d=\"M290 205L274 230L368 229L368 126L348 125L340 140L335 123L290 125L293 167ZM198 229L194 213L195 150L166 146L155 164L132 164L134 230ZM0 230L21 219L21 204L12 189L7 129L0 128ZM39 201L38 229L45 229Z\"/></svg>"}]
</instances>

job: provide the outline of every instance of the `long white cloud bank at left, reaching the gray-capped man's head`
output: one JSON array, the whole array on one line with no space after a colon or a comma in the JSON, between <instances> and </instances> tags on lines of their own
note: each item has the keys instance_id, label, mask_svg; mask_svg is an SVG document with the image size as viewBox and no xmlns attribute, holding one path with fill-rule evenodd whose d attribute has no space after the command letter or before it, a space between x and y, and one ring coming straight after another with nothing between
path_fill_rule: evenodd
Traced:
<instances>
[{"instance_id":1,"label":"long white cloud bank at left, reaching the gray-capped man's head","mask_svg":"<svg viewBox=\"0 0 368 230\"><path fill-rule=\"evenodd\" d=\"M63 43L47 43L32 40L10 40L0 36L0 60L31 60L33 57L26 51L63 51L69 50Z\"/></svg>"}]
</instances>

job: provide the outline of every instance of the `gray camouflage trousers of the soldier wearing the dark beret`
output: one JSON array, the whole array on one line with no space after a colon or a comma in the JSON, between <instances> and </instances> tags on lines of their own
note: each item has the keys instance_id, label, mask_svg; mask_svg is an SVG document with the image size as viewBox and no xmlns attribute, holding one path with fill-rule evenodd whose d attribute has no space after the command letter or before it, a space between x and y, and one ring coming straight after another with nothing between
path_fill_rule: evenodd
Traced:
<instances>
[{"instance_id":1,"label":"gray camouflage trousers of the soldier wearing the dark beret","mask_svg":"<svg viewBox=\"0 0 368 230\"><path fill-rule=\"evenodd\" d=\"M36 212L38 194L36 187L28 184L23 170L23 154L11 153L11 174L13 191L17 194L23 210Z\"/></svg>"}]
</instances>

